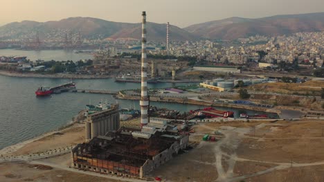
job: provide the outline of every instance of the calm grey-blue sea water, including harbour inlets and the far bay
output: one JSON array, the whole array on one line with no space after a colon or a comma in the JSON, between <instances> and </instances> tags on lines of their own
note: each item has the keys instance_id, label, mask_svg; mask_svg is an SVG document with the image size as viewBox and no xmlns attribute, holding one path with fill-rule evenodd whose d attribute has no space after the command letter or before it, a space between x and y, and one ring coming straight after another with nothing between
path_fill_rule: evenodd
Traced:
<instances>
[{"instance_id":1,"label":"calm grey-blue sea water, including harbour inlets and the far bay","mask_svg":"<svg viewBox=\"0 0 324 182\"><path fill-rule=\"evenodd\" d=\"M14 50L10 51L15 52ZM0 50L0 55L4 55L5 52L6 50ZM35 51L27 51L26 54L21 50L18 52L20 53L6 53L7 55L19 56L31 55L30 57L36 59L44 59L45 57L48 57L48 59L58 60L61 59L59 57L62 56L62 60L71 60L71 58L74 57L73 53L68 54L62 50L46 51L46 54L39 54L42 55L42 57L37 57ZM55 57L55 54L59 57ZM71 57L66 55L71 55ZM66 59L64 59L64 57L66 57ZM75 60L78 59L80 59L80 57L75 57ZM91 104L97 104L101 100L107 100L109 103L118 102L122 108L139 108L138 101L116 100L106 94L66 92L62 94L53 94L51 97L35 96L35 90L39 85L53 87L69 81L69 79L0 76L0 149L66 125L71 122L71 119L78 114L80 110L85 108L86 104L89 104L90 102ZM76 86L79 89L118 91L141 88L140 83L116 83L114 79L76 79L73 81L75 81ZM185 83L180 84L183 85ZM167 88L170 86L172 86L171 83L148 84L149 88ZM160 108L180 110L182 112L202 108L197 105L182 105L177 103L152 102L151 105L156 105ZM228 108L220 109L232 110ZM233 111L237 112L238 110ZM255 112L247 111L247 113L254 114ZM236 116L237 114L238 112L236 113Z\"/></svg>"}]
</instances>

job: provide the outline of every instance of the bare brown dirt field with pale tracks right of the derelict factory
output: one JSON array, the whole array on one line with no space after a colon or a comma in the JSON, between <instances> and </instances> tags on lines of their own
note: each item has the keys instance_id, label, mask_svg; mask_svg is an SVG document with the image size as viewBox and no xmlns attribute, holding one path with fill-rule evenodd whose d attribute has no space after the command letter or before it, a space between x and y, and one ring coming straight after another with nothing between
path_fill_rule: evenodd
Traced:
<instances>
[{"instance_id":1,"label":"bare brown dirt field with pale tracks right of the derelict factory","mask_svg":"<svg viewBox=\"0 0 324 182\"><path fill-rule=\"evenodd\" d=\"M307 119L199 124L190 141L215 131L224 138L201 141L152 176L166 181L323 181L322 125Z\"/></svg>"}]
</instances>

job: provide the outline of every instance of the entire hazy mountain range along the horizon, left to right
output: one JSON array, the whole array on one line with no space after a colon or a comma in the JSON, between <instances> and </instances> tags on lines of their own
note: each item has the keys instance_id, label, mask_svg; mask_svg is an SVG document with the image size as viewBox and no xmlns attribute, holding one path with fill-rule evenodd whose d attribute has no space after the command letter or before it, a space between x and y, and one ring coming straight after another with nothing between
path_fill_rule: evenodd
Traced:
<instances>
[{"instance_id":1,"label":"entire hazy mountain range along the horizon, left to right","mask_svg":"<svg viewBox=\"0 0 324 182\"><path fill-rule=\"evenodd\" d=\"M279 14L257 19L230 17L186 28L170 25L170 40L235 40L256 34L277 36L319 31L324 31L324 12ZM141 23L120 23L93 17L69 17L45 22L25 20L0 26L0 39L35 39L35 32L39 32L40 39L64 39L67 32L80 32L85 39L141 39ZM147 22L149 41L165 42L165 37L165 23Z\"/></svg>"}]
</instances>

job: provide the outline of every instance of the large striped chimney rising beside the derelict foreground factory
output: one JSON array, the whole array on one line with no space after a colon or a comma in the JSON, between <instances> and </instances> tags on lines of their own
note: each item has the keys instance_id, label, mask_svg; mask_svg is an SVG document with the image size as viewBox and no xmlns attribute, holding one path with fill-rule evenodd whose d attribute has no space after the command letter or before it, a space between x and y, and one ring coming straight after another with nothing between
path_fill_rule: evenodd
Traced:
<instances>
[{"instance_id":1,"label":"large striped chimney rising beside the derelict foreground factory","mask_svg":"<svg viewBox=\"0 0 324 182\"><path fill-rule=\"evenodd\" d=\"M141 126L147 125L148 117L147 110L149 99L147 97L147 61L146 61L146 13L142 13L142 79L141 79Z\"/></svg>"}]
</instances>

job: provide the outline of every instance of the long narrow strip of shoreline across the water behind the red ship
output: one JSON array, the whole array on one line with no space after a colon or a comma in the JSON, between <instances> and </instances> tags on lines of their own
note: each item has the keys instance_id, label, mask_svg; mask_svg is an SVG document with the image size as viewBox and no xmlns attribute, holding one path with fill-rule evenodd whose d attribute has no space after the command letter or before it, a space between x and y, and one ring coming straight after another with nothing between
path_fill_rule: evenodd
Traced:
<instances>
[{"instance_id":1,"label":"long narrow strip of shoreline across the water behind the red ship","mask_svg":"<svg viewBox=\"0 0 324 182\"><path fill-rule=\"evenodd\" d=\"M37 74L37 73L19 73L0 70L0 75L7 77L23 77L23 78L48 78L48 79L112 79L113 75L98 74Z\"/></svg>"}]
</instances>

